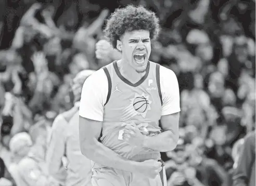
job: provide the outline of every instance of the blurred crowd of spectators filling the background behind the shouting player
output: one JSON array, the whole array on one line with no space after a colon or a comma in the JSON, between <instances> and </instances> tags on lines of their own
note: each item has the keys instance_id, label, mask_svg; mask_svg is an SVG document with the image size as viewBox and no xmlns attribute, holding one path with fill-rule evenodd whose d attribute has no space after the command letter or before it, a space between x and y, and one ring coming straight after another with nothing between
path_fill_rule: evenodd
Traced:
<instances>
[{"instance_id":1,"label":"blurred crowd of spectators filling the background behind the shouting player","mask_svg":"<svg viewBox=\"0 0 256 186\"><path fill-rule=\"evenodd\" d=\"M239 149L255 129L252 0L1 1L0 184L19 185L19 171L55 185L45 168L50 127L72 108L78 72L120 58L102 40L103 28L130 3L156 12L162 29L150 60L173 70L180 85L180 140L162 153L168 184L232 185ZM36 171L24 164L28 157Z\"/></svg>"}]
</instances>

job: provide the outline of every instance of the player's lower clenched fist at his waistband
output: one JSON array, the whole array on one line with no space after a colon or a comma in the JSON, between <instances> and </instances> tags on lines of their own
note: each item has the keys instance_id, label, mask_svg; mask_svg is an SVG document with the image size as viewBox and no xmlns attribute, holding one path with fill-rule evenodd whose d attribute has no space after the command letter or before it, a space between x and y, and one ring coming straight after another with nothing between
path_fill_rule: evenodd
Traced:
<instances>
[{"instance_id":1,"label":"player's lower clenched fist at his waistband","mask_svg":"<svg viewBox=\"0 0 256 186\"><path fill-rule=\"evenodd\" d=\"M139 167L136 169L140 174L143 174L149 178L156 178L159 172L162 170L162 163L156 160L146 160L139 163Z\"/></svg>"}]
</instances>

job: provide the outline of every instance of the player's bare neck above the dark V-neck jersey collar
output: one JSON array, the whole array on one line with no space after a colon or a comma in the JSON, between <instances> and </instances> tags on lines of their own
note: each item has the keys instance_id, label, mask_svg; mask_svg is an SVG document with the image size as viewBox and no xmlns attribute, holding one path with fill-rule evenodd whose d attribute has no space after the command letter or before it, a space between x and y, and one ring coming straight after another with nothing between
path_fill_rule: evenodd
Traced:
<instances>
[{"instance_id":1,"label":"player's bare neck above the dark V-neck jersey collar","mask_svg":"<svg viewBox=\"0 0 256 186\"><path fill-rule=\"evenodd\" d=\"M117 61L118 69L122 76L124 76L128 81L131 83L136 83L141 79L145 74L145 72L139 73L137 72L131 65L125 61L124 59L121 59Z\"/></svg>"}]
</instances>

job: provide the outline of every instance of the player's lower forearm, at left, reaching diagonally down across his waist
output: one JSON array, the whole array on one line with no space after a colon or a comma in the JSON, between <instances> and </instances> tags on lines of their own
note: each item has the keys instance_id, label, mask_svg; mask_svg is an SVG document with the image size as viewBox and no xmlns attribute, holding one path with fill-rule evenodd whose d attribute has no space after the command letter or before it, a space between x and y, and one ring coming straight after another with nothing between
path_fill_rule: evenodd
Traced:
<instances>
[{"instance_id":1,"label":"player's lower forearm, at left, reaching diagonally down across his waist","mask_svg":"<svg viewBox=\"0 0 256 186\"><path fill-rule=\"evenodd\" d=\"M127 160L94 139L93 145L82 145L81 151L89 160L101 165L128 172L136 171L139 163ZM83 148L86 147L86 148Z\"/></svg>"}]
</instances>

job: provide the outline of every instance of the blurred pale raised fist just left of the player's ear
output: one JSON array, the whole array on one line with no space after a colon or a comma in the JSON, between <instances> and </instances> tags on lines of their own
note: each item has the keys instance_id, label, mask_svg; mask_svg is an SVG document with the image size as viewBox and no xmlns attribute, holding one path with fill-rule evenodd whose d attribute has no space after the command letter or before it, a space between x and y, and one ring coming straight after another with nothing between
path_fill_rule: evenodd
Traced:
<instances>
[{"instance_id":1,"label":"blurred pale raised fist just left of the player's ear","mask_svg":"<svg viewBox=\"0 0 256 186\"><path fill-rule=\"evenodd\" d=\"M96 58L104 60L111 59L110 56L112 50L113 48L111 47L110 43L107 42L105 39L102 39L96 43Z\"/></svg>"}]
</instances>

